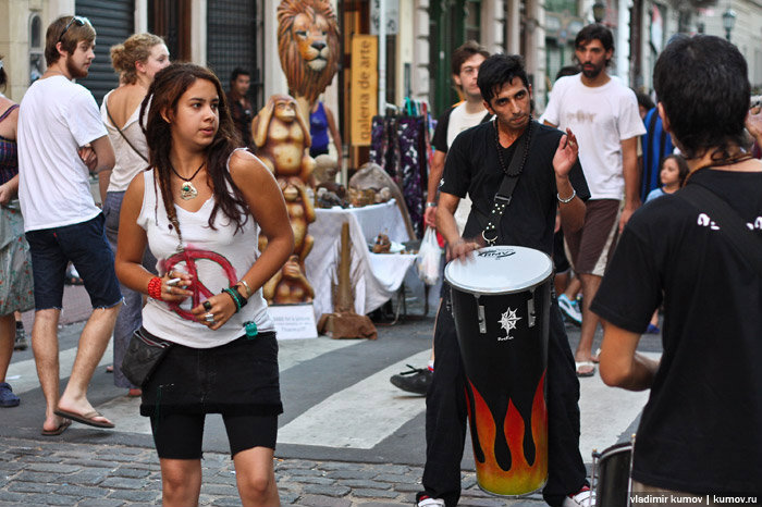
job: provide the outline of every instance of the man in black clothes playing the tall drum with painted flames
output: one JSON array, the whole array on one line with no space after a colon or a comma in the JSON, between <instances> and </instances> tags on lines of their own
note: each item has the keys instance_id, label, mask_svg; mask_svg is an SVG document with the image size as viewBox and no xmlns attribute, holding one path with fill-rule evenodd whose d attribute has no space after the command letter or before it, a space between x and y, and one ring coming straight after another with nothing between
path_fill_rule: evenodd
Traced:
<instances>
[{"instance_id":1,"label":"man in black clothes playing the tall drum with painted flames","mask_svg":"<svg viewBox=\"0 0 762 507\"><path fill-rule=\"evenodd\" d=\"M447 152L437 209L438 230L448 259L465 260L479 248L497 188L517 145L525 143L521 174L499 226L499 245L534 248L551 256L556 210L564 228L577 231L585 218L588 186L577 161L577 141L531 120L531 86L520 57L495 54L480 66L484 107L496 118L462 133ZM520 139L519 139L520 138ZM517 143L518 141L518 143ZM527 149L528 148L528 149ZM468 195L472 207L463 237L454 212ZM492 238L492 236L488 236ZM427 394L427 460L418 506L454 506L460 496L460 459L466 436L465 376L448 293L434 330L434 376ZM543 497L553 507L592 505L579 454L579 382L555 297L551 305L548 358L549 480Z\"/></svg>"}]
</instances>

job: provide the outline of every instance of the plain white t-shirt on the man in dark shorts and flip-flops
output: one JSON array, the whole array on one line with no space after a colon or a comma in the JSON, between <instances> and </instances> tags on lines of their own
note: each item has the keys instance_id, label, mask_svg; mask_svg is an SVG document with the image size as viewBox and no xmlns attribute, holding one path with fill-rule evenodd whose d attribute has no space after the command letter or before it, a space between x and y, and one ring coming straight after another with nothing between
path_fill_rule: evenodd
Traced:
<instances>
[{"instance_id":1,"label":"plain white t-shirt on the man in dark shorts and flip-flops","mask_svg":"<svg viewBox=\"0 0 762 507\"><path fill-rule=\"evenodd\" d=\"M24 231L91 220L100 209L77 148L107 135L98 104L64 76L37 79L19 113L19 200Z\"/></svg>"}]
</instances>

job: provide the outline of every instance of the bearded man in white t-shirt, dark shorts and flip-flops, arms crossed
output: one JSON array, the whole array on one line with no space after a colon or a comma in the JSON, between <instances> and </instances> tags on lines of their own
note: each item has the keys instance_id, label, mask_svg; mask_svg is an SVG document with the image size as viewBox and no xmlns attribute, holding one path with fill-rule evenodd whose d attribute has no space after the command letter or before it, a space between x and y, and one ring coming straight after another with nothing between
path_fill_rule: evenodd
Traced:
<instances>
[{"instance_id":1,"label":"bearded man in white t-shirt, dark shorts and flip-flops, arms crossed","mask_svg":"<svg viewBox=\"0 0 762 507\"><path fill-rule=\"evenodd\" d=\"M72 420L113 428L87 400L87 387L122 301L105 218L89 186L89 172L110 171L114 152L93 95L72 82L87 76L95 36L85 17L51 23L45 47L48 70L24 95L19 114L19 198L35 285L32 347L47 405L42 435L61 434ZM70 261L94 310L59 397L58 322Z\"/></svg>"}]
</instances>

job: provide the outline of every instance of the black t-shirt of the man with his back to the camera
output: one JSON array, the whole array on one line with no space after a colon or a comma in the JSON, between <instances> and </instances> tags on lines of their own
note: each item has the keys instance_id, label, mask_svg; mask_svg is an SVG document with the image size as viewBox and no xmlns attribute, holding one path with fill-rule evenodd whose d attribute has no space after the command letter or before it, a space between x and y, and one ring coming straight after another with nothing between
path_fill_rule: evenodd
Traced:
<instances>
[{"instance_id":1,"label":"black t-shirt of the man with his back to the camera","mask_svg":"<svg viewBox=\"0 0 762 507\"><path fill-rule=\"evenodd\" d=\"M703 169L688 185L714 190L762 240L762 173ZM662 301L664 355L632 475L687 493L762 495L762 275L674 195L632 214L591 309L642 333Z\"/></svg>"}]
</instances>

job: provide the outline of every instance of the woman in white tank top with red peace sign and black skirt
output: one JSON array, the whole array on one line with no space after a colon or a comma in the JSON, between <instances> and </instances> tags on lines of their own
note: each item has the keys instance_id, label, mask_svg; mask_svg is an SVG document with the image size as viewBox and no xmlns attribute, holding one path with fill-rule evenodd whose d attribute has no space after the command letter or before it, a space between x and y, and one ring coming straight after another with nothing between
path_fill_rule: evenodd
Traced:
<instances>
[{"instance_id":1,"label":"woman in white tank top with red peace sign and black skirt","mask_svg":"<svg viewBox=\"0 0 762 507\"><path fill-rule=\"evenodd\" d=\"M280 505L278 344L261 286L293 250L285 202L259 159L235 149L225 95L209 70L170 65L148 101L151 169L124 196L116 274L150 296L140 332L172 344L143 384L140 405L151 418L163 505L197 505L204 419L212 412L225 423L243 504ZM160 276L140 264L146 246Z\"/></svg>"}]
</instances>

